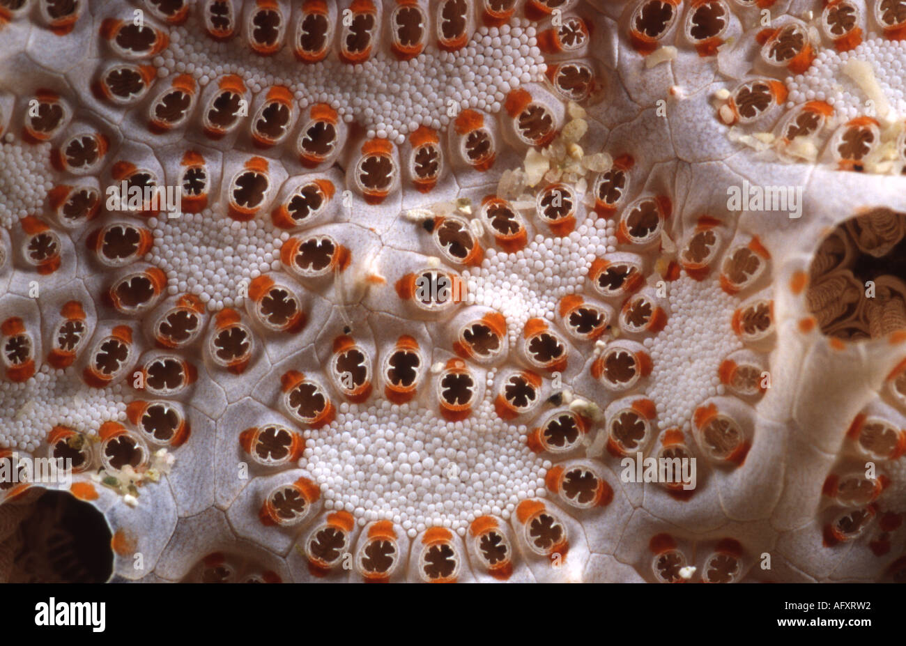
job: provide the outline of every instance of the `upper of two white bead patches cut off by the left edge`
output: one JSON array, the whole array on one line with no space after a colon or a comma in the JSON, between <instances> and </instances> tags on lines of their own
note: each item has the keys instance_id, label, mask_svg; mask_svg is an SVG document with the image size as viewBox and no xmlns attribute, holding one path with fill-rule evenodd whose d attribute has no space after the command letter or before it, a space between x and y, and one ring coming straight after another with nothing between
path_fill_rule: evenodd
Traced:
<instances>
[{"instance_id":1,"label":"upper of two white bead patches cut off by the left edge","mask_svg":"<svg viewBox=\"0 0 906 646\"><path fill-rule=\"evenodd\" d=\"M0 227L12 228L25 216L40 215L53 188L51 145L21 144L13 133L0 140Z\"/></svg>"}]
</instances>

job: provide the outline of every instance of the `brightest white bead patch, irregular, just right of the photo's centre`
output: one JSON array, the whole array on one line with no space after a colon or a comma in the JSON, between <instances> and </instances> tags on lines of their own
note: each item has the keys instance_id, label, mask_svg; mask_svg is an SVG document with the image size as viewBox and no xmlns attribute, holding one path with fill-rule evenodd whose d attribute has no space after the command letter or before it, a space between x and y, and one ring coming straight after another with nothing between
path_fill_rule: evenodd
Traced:
<instances>
[{"instance_id":1,"label":"brightest white bead patch, irregular, just right of the photo's centre","mask_svg":"<svg viewBox=\"0 0 906 646\"><path fill-rule=\"evenodd\" d=\"M580 291L595 256L615 251L612 223L589 220L569 236L537 235L520 251L490 247L479 269L462 273L467 303L493 307L504 315L515 344L530 318L553 320L557 302Z\"/></svg>"}]
</instances>

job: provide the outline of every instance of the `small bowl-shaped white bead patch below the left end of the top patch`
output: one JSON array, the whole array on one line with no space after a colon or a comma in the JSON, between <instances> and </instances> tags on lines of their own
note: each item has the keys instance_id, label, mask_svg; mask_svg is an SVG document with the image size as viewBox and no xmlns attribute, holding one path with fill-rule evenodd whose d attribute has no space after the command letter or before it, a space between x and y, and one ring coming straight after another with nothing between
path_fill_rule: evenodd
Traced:
<instances>
[{"instance_id":1,"label":"small bowl-shaped white bead patch below the left end of the top patch","mask_svg":"<svg viewBox=\"0 0 906 646\"><path fill-rule=\"evenodd\" d=\"M154 246L145 259L167 275L169 294L196 294L212 311L242 304L257 276L280 267L289 234L266 217L237 222L217 205L179 217L153 217Z\"/></svg>"}]
</instances>

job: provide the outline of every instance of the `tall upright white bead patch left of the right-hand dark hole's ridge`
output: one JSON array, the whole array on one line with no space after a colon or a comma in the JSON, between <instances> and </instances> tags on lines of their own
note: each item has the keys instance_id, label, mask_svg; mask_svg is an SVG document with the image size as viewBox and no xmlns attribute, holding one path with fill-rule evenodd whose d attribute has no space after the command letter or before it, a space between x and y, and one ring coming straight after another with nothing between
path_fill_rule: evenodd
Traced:
<instances>
[{"instance_id":1,"label":"tall upright white bead patch left of the right-hand dark hole's ridge","mask_svg":"<svg viewBox=\"0 0 906 646\"><path fill-rule=\"evenodd\" d=\"M647 395L660 429L686 429L702 401L723 393L720 362L742 347L730 326L738 300L716 278L699 283L683 274L669 285L667 325L644 342L654 363Z\"/></svg>"}]
</instances>

